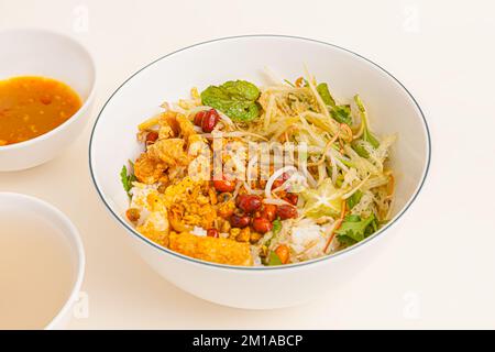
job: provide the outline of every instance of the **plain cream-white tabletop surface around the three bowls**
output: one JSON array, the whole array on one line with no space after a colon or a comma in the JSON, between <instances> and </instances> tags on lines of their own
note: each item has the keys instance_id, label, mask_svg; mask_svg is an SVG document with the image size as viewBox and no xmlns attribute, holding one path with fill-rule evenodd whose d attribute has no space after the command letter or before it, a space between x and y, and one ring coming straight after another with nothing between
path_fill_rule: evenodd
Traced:
<instances>
[{"instance_id":1,"label":"plain cream-white tabletop surface around the three bowls","mask_svg":"<svg viewBox=\"0 0 495 352\"><path fill-rule=\"evenodd\" d=\"M52 29L92 52L89 125L144 64L210 38L270 33L327 41L385 67L431 131L429 177L387 250L327 297L273 311L199 300L131 251L90 182L90 127L55 161L0 174L0 191L47 200L81 232L89 315L70 328L495 328L494 13L492 1L0 0L0 29Z\"/></svg>"}]
</instances>

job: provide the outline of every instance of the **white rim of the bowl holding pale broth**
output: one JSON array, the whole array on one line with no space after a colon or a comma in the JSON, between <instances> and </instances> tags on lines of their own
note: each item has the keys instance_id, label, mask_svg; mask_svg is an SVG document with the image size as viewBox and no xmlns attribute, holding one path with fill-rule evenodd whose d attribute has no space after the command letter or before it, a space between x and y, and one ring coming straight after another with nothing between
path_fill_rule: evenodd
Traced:
<instances>
[{"instance_id":1,"label":"white rim of the bowl holding pale broth","mask_svg":"<svg viewBox=\"0 0 495 352\"><path fill-rule=\"evenodd\" d=\"M77 300L77 295L79 295L82 280L85 277L86 272L86 254L85 254L85 246L82 244L82 240L80 238L79 230L76 228L76 226L70 221L70 219L62 212L58 208L51 205L50 202L42 200L40 198L24 195L24 194L18 194L18 193L10 193L10 191L0 191L0 198L7 197L7 198L18 198L28 202L32 202L37 207L42 207L48 210L48 212L55 218L62 221L63 226L67 228L67 230L62 231L64 233L64 237L72 238L74 240L75 244L75 253L77 255L76 257L76 272L74 275L74 283L70 287L70 293L67 296L67 298L64 301L64 305L61 306L61 308L57 310L56 315L52 318L50 322L46 323L44 327L45 330L52 330L56 329L58 323L63 321L63 319L66 317L68 311L72 309L73 304ZM53 224L53 222L51 221ZM57 227L58 228L58 227Z\"/></svg>"}]
</instances>

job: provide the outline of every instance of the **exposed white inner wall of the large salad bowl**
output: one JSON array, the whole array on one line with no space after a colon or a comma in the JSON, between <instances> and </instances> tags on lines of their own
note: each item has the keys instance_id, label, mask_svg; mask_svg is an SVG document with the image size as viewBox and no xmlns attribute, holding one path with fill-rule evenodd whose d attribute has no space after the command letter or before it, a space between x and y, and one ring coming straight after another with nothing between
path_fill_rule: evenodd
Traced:
<instances>
[{"instance_id":1,"label":"exposed white inner wall of the large salad bowl","mask_svg":"<svg viewBox=\"0 0 495 352\"><path fill-rule=\"evenodd\" d=\"M267 82L264 68L294 80L305 65L318 81L327 81L338 100L360 94L378 135L398 133L392 167L396 173L394 215L414 199L429 162L426 121L407 90L386 72L345 50L286 36L243 36L195 45L163 57L127 80L109 99L95 125L90 163L100 195L121 218L128 206L119 172L142 147L136 125L160 111L160 105L188 97L191 87L246 79Z\"/></svg>"}]
</instances>

